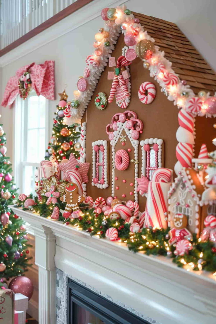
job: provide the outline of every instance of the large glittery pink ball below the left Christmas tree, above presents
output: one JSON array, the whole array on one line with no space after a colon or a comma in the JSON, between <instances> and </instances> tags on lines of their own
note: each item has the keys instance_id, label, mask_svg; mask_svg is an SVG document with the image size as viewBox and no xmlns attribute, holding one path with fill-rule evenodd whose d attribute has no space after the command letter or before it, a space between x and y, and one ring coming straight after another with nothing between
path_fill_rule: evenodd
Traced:
<instances>
[{"instance_id":1,"label":"large glittery pink ball below the left Christmas tree, above presents","mask_svg":"<svg viewBox=\"0 0 216 324\"><path fill-rule=\"evenodd\" d=\"M11 280L8 288L12 289L15 294L19 293L27 296L28 300L31 299L34 292L31 280L25 276L16 277Z\"/></svg>"}]
</instances>

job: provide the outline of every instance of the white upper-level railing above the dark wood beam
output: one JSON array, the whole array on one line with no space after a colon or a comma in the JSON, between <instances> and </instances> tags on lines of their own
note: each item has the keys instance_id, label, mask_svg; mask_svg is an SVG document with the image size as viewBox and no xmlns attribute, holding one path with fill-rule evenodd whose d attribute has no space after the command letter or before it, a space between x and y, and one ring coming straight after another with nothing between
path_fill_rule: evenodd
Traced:
<instances>
[{"instance_id":1,"label":"white upper-level railing above the dark wood beam","mask_svg":"<svg viewBox=\"0 0 216 324\"><path fill-rule=\"evenodd\" d=\"M0 49L8 46L76 0L0 0Z\"/></svg>"}]
</instances>

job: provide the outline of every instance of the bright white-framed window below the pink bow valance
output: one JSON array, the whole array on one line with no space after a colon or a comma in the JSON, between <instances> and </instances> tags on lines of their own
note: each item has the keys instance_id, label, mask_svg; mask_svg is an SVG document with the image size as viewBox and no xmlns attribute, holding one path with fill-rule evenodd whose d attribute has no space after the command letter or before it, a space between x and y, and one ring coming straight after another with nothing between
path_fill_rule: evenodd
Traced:
<instances>
[{"instance_id":1,"label":"bright white-framed window below the pink bow valance","mask_svg":"<svg viewBox=\"0 0 216 324\"><path fill-rule=\"evenodd\" d=\"M15 180L20 192L34 193L35 173L44 159L48 143L49 101L31 91L26 100L16 99L14 161Z\"/></svg>"}]
</instances>

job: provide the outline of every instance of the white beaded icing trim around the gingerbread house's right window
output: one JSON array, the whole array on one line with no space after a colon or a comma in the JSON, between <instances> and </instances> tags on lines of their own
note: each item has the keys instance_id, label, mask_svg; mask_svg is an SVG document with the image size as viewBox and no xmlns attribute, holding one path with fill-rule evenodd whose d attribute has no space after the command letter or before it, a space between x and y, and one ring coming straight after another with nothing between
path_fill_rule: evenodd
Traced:
<instances>
[{"instance_id":1,"label":"white beaded icing trim around the gingerbread house's right window","mask_svg":"<svg viewBox=\"0 0 216 324\"><path fill-rule=\"evenodd\" d=\"M162 155L162 144L164 143L164 141L162 139L158 139L158 138L146 138L145 140L142 140L140 142L140 145L142 146L142 175L145 177L146 175L146 152L143 149L143 146L145 144L157 144L158 145L158 153L157 153L157 159L158 159L158 168L162 168L162 159L161 159L161 155ZM143 193L141 195L141 197L147 197L147 192Z\"/></svg>"}]
</instances>

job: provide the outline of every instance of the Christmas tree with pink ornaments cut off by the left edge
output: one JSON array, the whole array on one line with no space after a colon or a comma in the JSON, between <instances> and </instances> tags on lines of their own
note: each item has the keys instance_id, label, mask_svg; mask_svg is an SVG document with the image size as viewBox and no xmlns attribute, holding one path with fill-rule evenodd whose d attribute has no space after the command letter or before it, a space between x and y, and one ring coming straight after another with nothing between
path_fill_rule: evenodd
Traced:
<instances>
[{"instance_id":1,"label":"Christmas tree with pink ornaments cut off by the left edge","mask_svg":"<svg viewBox=\"0 0 216 324\"><path fill-rule=\"evenodd\" d=\"M16 198L17 189L5 144L5 133L0 124L0 287L4 278L19 276L29 266L25 223L8 207Z\"/></svg>"}]
</instances>

